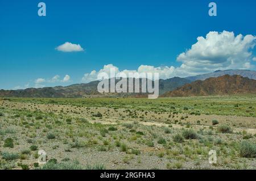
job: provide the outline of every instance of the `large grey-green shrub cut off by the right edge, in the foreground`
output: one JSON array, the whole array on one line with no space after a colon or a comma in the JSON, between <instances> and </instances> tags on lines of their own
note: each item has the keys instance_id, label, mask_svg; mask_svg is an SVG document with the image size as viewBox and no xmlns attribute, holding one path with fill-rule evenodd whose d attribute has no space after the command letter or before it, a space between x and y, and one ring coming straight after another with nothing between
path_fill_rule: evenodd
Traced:
<instances>
[{"instance_id":1,"label":"large grey-green shrub cut off by the right edge, in the foreground","mask_svg":"<svg viewBox=\"0 0 256 181\"><path fill-rule=\"evenodd\" d=\"M256 158L256 144L242 141L240 145L240 156L245 158Z\"/></svg>"}]
</instances>

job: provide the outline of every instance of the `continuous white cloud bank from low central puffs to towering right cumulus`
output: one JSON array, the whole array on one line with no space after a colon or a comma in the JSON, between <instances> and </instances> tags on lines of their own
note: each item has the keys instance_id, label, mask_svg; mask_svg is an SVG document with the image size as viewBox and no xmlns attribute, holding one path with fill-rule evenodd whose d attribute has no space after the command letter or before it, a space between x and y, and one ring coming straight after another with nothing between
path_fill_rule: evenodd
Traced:
<instances>
[{"instance_id":1,"label":"continuous white cloud bank from low central puffs to towering right cumulus","mask_svg":"<svg viewBox=\"0 0 256 181\"><path fill-rule=\"evenodd\" d=\"M187 77L201 73L209 73L215 70L226 69L252 69L251 61L256 61L252 54L255 47L256 36L241 34L235 36L233 32L211 31L205 37L197 37L197 42L190 49L177 56L176 61L181 62L174 66L141 65L135 70L119 70L112 64L104 65L100 70L85 73L82 82L96 81L99 73L110 75L110 68L115 73L159 73L159 78L167 79L175 76ZM110 76L109 76L110 77Z\"/></svg>"}]
</instances>

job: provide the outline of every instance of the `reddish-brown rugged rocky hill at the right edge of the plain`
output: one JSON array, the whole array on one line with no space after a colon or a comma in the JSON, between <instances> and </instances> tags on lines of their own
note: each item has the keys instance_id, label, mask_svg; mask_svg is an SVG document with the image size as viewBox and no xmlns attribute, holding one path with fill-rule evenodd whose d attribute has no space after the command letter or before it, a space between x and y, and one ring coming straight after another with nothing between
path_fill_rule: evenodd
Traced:
<instances>
[{"instance_id":1,"label":"reddish-brown rugged rocky hill at the right edge of the plain","mask_svg":"<svg viewBox=\"0 0 256 181\"><path fill-rule=\"evenodd\" d=\"M241 75L223 75L217 78L208 78L204 81L195 81L168 91L162 96L207 96L207 95L236 95L255 94L256 80Z\"/></svg>"}]
</instances>

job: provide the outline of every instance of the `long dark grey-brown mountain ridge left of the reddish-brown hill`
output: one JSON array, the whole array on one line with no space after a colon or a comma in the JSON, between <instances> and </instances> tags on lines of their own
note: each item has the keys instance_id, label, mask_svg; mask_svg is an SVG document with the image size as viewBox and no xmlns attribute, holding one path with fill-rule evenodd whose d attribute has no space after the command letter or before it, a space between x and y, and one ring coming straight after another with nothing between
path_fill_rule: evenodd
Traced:
<instances>
[{"instance_id":1,"label":"long dark grey-brown mountain ridge left of the reddish-brown hill","mask_svg":"<svg viewBox=\"0 0 256 181\"><path fill-rule=\"evenodd\" d=\"M141 80L140 80L141 81ZM89 83L74 84L71 86L57 86L44 88L28 88L24 90L0 90L0 97L19 97L19 98L82 98L88 96L146 96L147 94L138 93L107 93L100 94L97 91L99 81ZM118 81L116 81L118 82ZM127 81L128 82L128 81ZM177 87L190 83L191 81L185 78L174 77L170 79L159 80L159 94L166 91L174 90ZM141 87L140 87L141 90Z\"/></svg>"}]
</instances>

